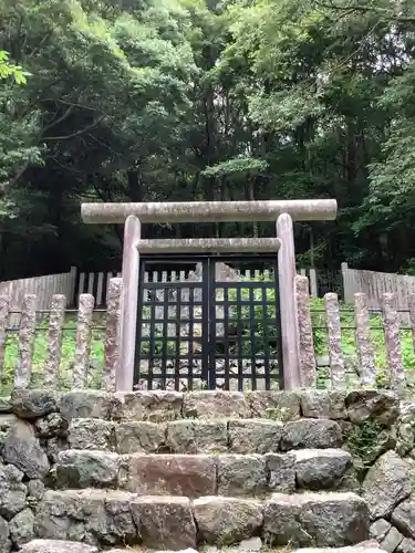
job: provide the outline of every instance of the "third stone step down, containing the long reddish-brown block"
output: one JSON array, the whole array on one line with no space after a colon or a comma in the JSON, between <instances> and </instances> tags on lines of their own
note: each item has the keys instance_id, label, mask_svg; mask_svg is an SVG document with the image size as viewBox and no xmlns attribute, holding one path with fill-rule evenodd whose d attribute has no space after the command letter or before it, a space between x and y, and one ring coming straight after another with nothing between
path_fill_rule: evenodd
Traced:
<instances>
[{"instance_id":1,"label":"third stone step down, containing the long reddish-brown block","mask_svg":"<svg viewBox=\"0 0 415 553\"><path fill-rule=\"evenodd\" d=\"M69 449L58 455L52 487L124 489L141 495L263 495L356 490L352 456L341 449L261 455L117 453Z\"/></svg>"}]
</instances>

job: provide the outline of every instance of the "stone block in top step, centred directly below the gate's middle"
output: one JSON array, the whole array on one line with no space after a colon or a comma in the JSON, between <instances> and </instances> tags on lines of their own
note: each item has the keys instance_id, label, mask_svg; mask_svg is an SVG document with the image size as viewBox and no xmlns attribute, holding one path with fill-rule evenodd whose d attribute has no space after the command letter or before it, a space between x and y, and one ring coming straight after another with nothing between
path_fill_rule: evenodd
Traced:
<instances>
[{"instance_id":1,"label":"stone block in top step, centred directly below the gate's middle","mask_svg":"<svg viewBox=\"0 0 415 553\"><path fill-rule=\"evenodd\" d=\"M249 418L251 410L240 392L204 390L185 394L185 418Z\"/></svg>"}]
</instances>

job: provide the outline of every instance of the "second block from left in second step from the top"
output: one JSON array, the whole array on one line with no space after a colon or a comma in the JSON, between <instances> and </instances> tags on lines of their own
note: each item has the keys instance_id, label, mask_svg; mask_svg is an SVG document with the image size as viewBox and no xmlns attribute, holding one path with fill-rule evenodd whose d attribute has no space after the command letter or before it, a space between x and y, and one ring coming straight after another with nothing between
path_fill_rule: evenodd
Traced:
<instances>
[{"instance_id":1,"label":"second block from left in second step from the top","mask_svg":"<svg viewBox=\"0 0 415 553\"><path fill-rule=\"evenodd\" d=\"M128 420L115 427L118 453L156 453L166 440L166 428L147 420Z\"/></svg>"}]
</instances>

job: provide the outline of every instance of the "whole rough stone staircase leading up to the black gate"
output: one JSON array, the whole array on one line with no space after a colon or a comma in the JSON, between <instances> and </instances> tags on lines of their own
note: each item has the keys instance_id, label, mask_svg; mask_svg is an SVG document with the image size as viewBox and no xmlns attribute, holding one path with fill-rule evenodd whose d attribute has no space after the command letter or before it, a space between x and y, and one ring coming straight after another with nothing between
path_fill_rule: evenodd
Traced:
<instances>
[{"instance_id":1,"label":"whole rough stone staircase leading up to the black gate","mask_svg":"<svg viewBox=\"0 0 415 553\"><path fill-rule=\"evenodd\" d=\"M23 553L220 551L255 536L268 550L364 542L369 510L353 459L340 424L325 418L341 418L338 406L307 410L270 394L137 393L110 403L68 394L68 440L49 451L40 540Z\"/></svg>"}]
</instances>

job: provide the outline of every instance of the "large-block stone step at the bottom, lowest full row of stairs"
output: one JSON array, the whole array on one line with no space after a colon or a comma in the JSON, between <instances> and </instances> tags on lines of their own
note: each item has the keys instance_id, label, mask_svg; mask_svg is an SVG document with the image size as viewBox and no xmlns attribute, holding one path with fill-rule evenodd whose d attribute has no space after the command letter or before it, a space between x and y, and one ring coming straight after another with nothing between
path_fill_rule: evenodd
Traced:
<instances>
[{"instance_id":1,"label":"large-block stone step at the bottom, lowest full row of stairs","mask_svg":"<svg viewBox=\"0 0 415 553\"><path fill-rule=\"evenodd\" d=\"M369 510L365 501L352 492L274 493L260 501L142 497L96 489L48 490L37 510L34 532L43 540L73 540L106 547L185 550L201 544L231 545L252 536L261 536L272 546L330 547L366 540Z\"/></svg>"}]
</instances>

